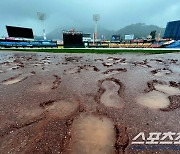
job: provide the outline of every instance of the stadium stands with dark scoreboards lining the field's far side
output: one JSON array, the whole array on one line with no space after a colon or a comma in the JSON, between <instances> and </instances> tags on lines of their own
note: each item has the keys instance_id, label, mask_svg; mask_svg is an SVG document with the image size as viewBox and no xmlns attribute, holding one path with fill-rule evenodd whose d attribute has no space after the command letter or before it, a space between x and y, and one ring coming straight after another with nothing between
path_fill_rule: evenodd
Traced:
<instances>
[{"instance_id":1,"label":"stadium stands with dark scoreboards lining the field's far side","mask_svg":"<svg viewBox=\"0 0 180 154\"><path fill-rule=\"evenodd\" d=\"M111 40L101 40L94 39L94 34L71 29L62 32L63 41L36 40L31 28L6 26L6 29L8 37L0 38L0 48L180 48L180 20L167 23L162 39L136 39L134 34L114 34Z\"/></svg>"}]
</instances>

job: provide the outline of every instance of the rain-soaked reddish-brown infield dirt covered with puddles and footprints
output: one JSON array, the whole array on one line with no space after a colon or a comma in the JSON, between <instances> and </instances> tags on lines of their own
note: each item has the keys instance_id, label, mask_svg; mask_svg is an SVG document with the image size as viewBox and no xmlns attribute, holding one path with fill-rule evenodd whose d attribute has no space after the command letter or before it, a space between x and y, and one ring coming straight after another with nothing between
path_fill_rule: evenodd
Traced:
<instances>
[{"instance_id":1,"label":"rain-soaked reddish-brown infield dirt covered with puddles and footprints","mask_svg":"<svg viewBox=\"0 0 180 154\"><path fill-rule=\"evenodd\" d=\"M179 128L180 53L0 52L1 154L180 153L132 144Z\"/></svg>"}]
</instances>

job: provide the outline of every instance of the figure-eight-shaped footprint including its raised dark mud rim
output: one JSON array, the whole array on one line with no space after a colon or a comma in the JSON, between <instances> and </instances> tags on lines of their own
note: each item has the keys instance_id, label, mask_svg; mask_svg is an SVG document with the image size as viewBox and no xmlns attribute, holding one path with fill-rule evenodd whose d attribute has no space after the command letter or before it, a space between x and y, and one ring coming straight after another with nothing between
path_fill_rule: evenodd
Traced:
<instances>
[{"instance_id":1,"label":"figure-eight-shaped footprint including its raised dark mud rim","mask_svg":"<svg viewBox=\"0 0 180 154\"><path fill-rule=\"evenodd\" d=\"M99 87L96 98L98 103L114 108L122 108L124 106L124 99L122 98L124 85L118 79L109 78L99 81Z\"/></svg>"}]
</instances>

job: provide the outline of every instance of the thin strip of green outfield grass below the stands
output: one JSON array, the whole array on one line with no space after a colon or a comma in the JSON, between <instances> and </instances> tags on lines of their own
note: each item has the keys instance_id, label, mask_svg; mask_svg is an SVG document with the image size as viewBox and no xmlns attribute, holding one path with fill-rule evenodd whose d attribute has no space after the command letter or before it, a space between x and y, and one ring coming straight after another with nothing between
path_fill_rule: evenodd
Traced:
<instances>
[{"instance_id":1,"label":"thin strip of green outfield grass below the stands","mask_svg":"<svg viewBox=\"0 0 180 154\"><path fill-rule=\"evenodd\" d=\"M162 54L180 52L178 50L167 49L0 49L1 51L26 51L26 52L48 52L48 53L97 53L97 54L117 54L117 53L144 53Z\"/></svg>"}]
</instances>

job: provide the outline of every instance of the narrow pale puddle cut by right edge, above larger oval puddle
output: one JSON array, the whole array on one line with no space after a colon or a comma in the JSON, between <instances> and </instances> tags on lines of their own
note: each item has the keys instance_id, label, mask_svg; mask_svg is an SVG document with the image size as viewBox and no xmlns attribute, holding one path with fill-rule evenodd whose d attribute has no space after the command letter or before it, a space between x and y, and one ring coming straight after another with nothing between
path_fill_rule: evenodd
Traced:
<instances>
[{"instance_id":1,"label":"narrow pale puddle cut by right edge, above larger oval puddle","mask_svg":"<svg viewBox=\"0 0 180 154\"><path fill-rule=\"evenodd\" d=\"M180 89L175 87L170 87L168 85L157 84L154 86L156 90L164 92L168 95L180 95Z\"/></svg>"}]
</instances>

